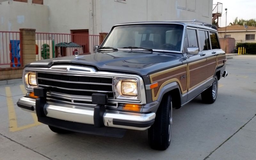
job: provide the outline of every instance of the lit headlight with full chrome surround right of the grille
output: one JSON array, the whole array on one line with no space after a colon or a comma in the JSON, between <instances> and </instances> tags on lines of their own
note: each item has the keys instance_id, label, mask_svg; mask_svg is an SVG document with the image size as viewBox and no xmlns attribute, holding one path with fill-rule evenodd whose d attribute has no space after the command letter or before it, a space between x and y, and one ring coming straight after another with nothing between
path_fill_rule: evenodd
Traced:
<instances>
[{"instance_id":1,"label":"lit headlight with full chrome surround right of the grille","mask_svg":"<svg viewBox=\"0 0 256 160\"><path fill-rule=\"evenodd\" d=\"M116 99L139 100L138 80L128 78L114 78Z\"/></svg>"}]
</instances>

